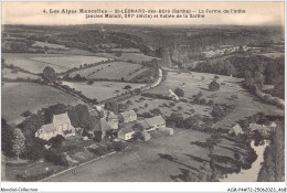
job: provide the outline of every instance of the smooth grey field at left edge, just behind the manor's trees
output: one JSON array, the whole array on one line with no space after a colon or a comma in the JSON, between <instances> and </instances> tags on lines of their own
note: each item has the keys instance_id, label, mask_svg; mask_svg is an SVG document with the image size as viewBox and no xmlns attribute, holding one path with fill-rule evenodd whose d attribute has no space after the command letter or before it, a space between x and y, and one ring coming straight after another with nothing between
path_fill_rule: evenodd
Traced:
<instances>
[{"instance_id":1,"label":"smooth grey field at left edge, just behind the manor's trees","mask_svg":"<svg viewBox=\"0 0 287 193\"><path fill-rule=\"evenodd\" d=\"M79 104L81 100L55 89L34 83L6 83L2 85L2 117L8 122L20 124L25 110L36 110L59 103L65 105Z\"/></svg>"}]
</instances>

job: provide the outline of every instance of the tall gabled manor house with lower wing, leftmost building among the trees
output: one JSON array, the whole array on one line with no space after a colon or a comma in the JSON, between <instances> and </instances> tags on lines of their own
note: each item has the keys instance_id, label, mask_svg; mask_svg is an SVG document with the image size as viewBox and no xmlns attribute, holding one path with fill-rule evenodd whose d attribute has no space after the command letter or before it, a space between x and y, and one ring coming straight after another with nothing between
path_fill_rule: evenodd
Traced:
<instances>
[{"instance_id":1,"label":"tall gabled manor house with lower wing, leftmost building among the trees","mask_svg":"<svg viewBox=\"0 0 287 193\"><path fill-rule=\"evenodd\" d=\"M71 125L67 114L54 115L52 124L43 125L36 132L35 137L49 140L57 135L71 137L76 135L76 129Z\"/></svg>"}]
</instances>

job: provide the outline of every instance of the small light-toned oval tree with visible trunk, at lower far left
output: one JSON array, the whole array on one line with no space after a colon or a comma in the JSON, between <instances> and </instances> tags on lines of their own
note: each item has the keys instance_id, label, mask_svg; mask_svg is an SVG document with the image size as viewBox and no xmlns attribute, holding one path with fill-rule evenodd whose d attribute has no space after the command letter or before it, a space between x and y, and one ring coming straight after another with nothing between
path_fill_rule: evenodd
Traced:
<instances>
[{"instance_id":1,"label":"small light-toned oval tree with visible trunk, at lower far left","mask_svg":"<svg viewBox=\"0 0 287 193\"><path fill-rule=\"evenodd\" d=\"M13 130L12 136L12 152L17 156L19 161L19 156L22 154L25 150L25 137L20 129Z\"/></svg>"}]
</instances>

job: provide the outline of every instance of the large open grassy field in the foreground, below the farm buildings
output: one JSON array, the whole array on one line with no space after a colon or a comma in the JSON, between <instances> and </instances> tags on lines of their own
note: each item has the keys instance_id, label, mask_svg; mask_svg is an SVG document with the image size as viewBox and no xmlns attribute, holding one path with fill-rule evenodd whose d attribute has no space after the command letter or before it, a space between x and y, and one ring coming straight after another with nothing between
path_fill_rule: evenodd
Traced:
<instances>
[{"instance_id":1,"label":"large open grassy field in the foreground, below the farm buildings","mask_svg":"<svg viewBox=\"0 0 287 193\"><path fill-rule=\"evenodd\" d=\"M200 168L203 160L209 161L209 150L191 142L204 142L208 133L193 130L176 130L174 136L152 131L149 142L131 144L131 149L76 168L76 175L70 172L49 181L53 182L171 182L187 170ZM225 149L234 143L222 140L214 149L215 154L232 157L234 152ZM223 147L223 148L222 148ZM169 156L173 160L164 159Z\"/></svg>"}]
</instances>

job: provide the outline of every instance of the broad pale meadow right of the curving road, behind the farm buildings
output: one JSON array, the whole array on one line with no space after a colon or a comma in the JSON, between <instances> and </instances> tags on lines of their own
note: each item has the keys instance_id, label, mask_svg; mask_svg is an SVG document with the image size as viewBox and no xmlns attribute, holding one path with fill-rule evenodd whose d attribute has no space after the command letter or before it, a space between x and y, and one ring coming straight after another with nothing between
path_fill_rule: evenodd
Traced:
<instances>
[{"instance_id":1,"label":"broad pale meadow right of the curving road, behind the farm buildings","mask_svg":"<svg viewBox=\"0 0 287 193\"><path fill-rule=\"evenodd\" d=\"M284 115L284 110L273 105L261 103L255 96L242 88L242 78L217 75L217 82L221 84L221 88L219 92L210 92L209 84L213 81L214 76L214 74L208 73L168 72L167 78L159 86L149 89L148 93L168 96L169 89L174 90L176 88L181 88L184 92L183 98L188 100L191 100L193 95L198 95L201 92L202 98L205 98L206 101L211 99L215 104L236 105L236 109L223 120L215 124L213 126L214 128L231 128L236 124L236 121L257 112L264 112L266 115ZM236 98L234 98L235 95ZM194 114L209 116L212 110L211 106L187 105L183 103L176 103L172 108L164 107L163 104L169 104L170 100L163 99L139 100L139 98L134 97L130 100L132 101L132 105L128 106L129 109L137 108L139 112L142 112L160 107L164 116L174 111L182 114L183 117L188 117L192 115L192 109L194 110ZM148 103L148 107L145 107L146 103ZM181 109L178 109L179 106L181 106Z\"/></svg>"}]
</instances>

